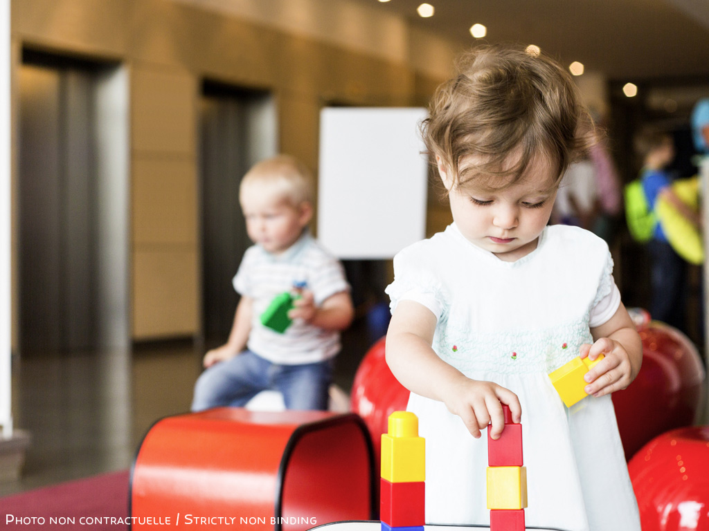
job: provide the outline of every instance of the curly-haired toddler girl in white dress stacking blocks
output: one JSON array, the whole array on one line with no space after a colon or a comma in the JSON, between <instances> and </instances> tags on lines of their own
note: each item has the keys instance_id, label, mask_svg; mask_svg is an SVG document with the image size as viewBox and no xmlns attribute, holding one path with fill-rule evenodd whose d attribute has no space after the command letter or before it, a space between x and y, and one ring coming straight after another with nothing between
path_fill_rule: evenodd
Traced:
<instances>
[{"instance_id":1,"label":"curly-haired toddler girl in white dress stacking blocks","mask_svg":"<svg viewBox=\"0 0 709 531\"><path fill-rule=\"evenodd\" d=\"M642 348L605 242L547 226L593 126L556 62L481 47L437 89L423 124L453 223L394 258L386 360L426 438L426 521L487 524L486 438L502 404L523 425L527 525L639 531L610 393ZM592 396L564 406L549 372L603 353Z\"/></svg>"}]
</instances>

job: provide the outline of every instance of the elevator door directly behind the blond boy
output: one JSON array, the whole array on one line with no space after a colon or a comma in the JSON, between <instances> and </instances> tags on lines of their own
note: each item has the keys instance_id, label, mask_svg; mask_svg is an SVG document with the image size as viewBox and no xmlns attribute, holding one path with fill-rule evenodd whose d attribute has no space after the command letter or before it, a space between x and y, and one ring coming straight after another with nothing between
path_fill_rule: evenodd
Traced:
<instances>
[{"instance_id":1,"label":"elevator door directly behind the blond boy","mask_svg":"<svg viewBox=\"0 0 709 531\"><path fill-rule=\"evenodd\" d=\"M277 153L272 96L206 82L201 101L203 329L224 341L238 295L232 286L250 245L239 205L239 183L257 161Z\"/></svg>"}]
</instances>

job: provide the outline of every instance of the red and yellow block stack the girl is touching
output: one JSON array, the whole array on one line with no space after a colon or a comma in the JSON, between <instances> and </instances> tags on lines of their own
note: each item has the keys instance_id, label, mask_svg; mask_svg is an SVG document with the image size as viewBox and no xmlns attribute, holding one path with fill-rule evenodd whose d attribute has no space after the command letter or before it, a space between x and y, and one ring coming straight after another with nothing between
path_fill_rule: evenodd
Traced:
<instances>
[{"instance_id":1,"label":"red and yellow block stack the girl is touching","mask_svg":"<svg viewBox=\"0 0 709 531\"><path fill-rule=\"evenodd\" d=\"M488 428L487 506L491 531L525 531L527 469L522 458L522 425L503 404L505 429L498 440Z\"/></svg>"}]
</instances>

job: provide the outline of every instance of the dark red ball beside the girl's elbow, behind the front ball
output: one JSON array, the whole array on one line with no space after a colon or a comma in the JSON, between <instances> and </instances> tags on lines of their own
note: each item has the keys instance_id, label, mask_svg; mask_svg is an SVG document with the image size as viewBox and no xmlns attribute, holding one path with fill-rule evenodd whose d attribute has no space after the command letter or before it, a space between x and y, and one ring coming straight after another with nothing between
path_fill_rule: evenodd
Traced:
<instances>
[{"instance_id":1,"label":"dark red ball beside the girl's elbow, behind the front ball","mask_svg":"<svg viewBox=\"0 0 709 531\"><path fill-rule=\"evenodd\" d=\"M642 367L627 389L613 393L626 459L673 428L691 426L701 403L704 367L696 347L659 321L640 324Z\"/></svg>"}]
</instances>

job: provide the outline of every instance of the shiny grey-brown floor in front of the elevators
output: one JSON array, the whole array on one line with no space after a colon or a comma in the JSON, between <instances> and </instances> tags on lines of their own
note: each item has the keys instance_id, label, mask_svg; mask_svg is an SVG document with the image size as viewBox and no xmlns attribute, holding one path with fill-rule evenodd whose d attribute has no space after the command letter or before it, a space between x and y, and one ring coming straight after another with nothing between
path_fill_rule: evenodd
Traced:
<instances>
[{"instance_id":1,"label":"shiny grey-brown floor in front of the elevators","mask_svg":"<svg viewBox=\"0 0 709 531\"><path fill-rule=\"evenodd\" d=\"M335 384L349 392L371 340L357 321L342 339ZM152 423L189 411L202 355L174 341L16 360L13 417L32 442L22 478L0 483L0 496L130 467Z\"/></svg>"}]
</instances>

